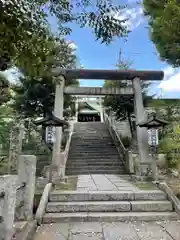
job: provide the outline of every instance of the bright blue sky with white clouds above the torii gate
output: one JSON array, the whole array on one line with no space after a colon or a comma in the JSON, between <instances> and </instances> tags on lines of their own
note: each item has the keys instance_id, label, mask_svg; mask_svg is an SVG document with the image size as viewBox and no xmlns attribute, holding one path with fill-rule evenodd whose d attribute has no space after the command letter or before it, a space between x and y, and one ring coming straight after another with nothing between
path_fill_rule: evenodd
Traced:
<instances>
[{"instance_id":1,"label":"bright blue sky with white clouds above the torii gate","mask_svg":"<svg viewBox=\"0 0 180 240\"><path fill-rule=\"evenodd\" d=\"M126 22L131 30L127 38L116 39L110 45L102 45L95 40L92 30L80 29L78 25L72 25L72 34L67 37L73 41L76 47L78 59L84 68L113 69L122 51L122 58L132 61L132 68L137 70L164 70L165 78L160 83L151 86L150 93L163 97L180 97L180 70L173 69L165 62L160 61L158 53L150 41L147 29L147 19L143 17L142 7L136 4L136 0L124 0L128 8L117 17L129 20ZM49 17L51 28L57 30L57 22L54 17ZM102 86L100 80L82 80L81 86ZM162 91L161 91L162 89Z\"/></svg>"}]
</instances>

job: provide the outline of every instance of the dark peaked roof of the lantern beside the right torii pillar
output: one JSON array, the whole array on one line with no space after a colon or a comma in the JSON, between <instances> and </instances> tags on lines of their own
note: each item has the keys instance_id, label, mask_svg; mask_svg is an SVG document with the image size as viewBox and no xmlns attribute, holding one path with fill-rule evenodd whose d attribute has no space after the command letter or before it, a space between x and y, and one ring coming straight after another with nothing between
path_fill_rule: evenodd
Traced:
<instances>
[{"instance_id":1,"label":"dark peaked roof of the lantern beside the right torii pillar","mask_svg":"<svg viewBox=\"0 0 180 240\"><path fill-rule=\"evenodd\" d=\"M152 117L138 124L139 127L147 127L148 129L165 127L166 125L168 125L168 122L163 119L157 118L156 114L153 114Z\"/></svg>"}]
</instances>

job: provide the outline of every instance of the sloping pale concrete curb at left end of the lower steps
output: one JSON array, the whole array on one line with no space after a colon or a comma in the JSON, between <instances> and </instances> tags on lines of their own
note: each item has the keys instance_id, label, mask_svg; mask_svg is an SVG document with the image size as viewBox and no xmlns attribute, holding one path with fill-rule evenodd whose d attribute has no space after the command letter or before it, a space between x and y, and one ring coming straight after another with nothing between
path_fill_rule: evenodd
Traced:
<instances>
[{"instance_id":1,"label":"sloping pale concrete curb at left end of the lower steps","mask_svg":"<svg viewBox=\"0 0 180 240\"><path fill-rule=\"evenodd\" d=\"M35 219L37 220L37 224L40 225L42 223L42 218L45 214L45 210L46 210L46 206L48 203L48 198L49 198L49 194L51 192L51 188L52 188L52 183L48 183L46 184L38 209L36 211L36 215L35 215Z\"/></svg>"}]
</instances>

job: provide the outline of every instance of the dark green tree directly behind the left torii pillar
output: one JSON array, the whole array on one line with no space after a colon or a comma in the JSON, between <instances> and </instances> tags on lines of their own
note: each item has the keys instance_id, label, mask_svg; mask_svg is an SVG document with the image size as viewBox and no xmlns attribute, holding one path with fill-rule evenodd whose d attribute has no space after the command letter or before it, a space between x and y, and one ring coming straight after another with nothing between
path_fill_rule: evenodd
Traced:
<instances>
[{"instance_id":1,"label":"dark green tree directly behind the left torii pillar","mask_svg":"<svg viewBox=\"0 0 180 240\"><path fill-rule=\"evenodd\" d=\"M52 46L50 46L52 47ZM47 111L53 111L55 99L55 81L51 74L47 74L53 66L58 64L62 68L75 68L76 55L69 43L64 40L55 41L53 48L48 50L49 57L41 66L41 77L25 75L14 86L14 107L20 114L26 117L45 115ZM76 79L66 79L66 85L78 85ZM64 108L72 106L72 97L65 95Z\"/></svg>"}]
</instances>

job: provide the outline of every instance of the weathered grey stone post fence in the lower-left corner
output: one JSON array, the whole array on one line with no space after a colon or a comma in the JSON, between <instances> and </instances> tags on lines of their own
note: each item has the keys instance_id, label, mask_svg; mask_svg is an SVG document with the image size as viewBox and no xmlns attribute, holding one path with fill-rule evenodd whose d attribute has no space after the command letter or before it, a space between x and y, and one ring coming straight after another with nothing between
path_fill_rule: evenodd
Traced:
<instances>
[{"instance_id":1,"label":"weathered grey stone post fence in the lower-left corner","mask_svg":"<svg viewBox=\"0 0 180 240\"><path fill-rule=\"evenodd\" d=\"M21 155L18 175L0 176L0 240L10 240L14 220L31 220L36 182L36 157Z\"/></svg>"}]
</instances>

